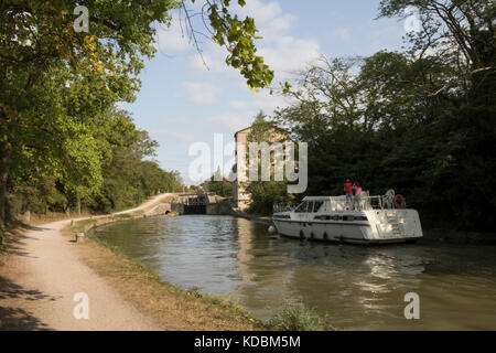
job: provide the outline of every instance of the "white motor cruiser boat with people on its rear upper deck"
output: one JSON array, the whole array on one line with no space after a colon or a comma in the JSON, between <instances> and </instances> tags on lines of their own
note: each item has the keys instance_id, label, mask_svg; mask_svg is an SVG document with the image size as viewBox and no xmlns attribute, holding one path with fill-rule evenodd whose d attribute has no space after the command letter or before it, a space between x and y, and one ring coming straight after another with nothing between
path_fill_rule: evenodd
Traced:
<instances>
[{"instance_id":1,"label":"white motor cruiser boat with people on its rear upper deck","mask_svg":"<svg viewBox=\"0 0 496 353\"><path fill-rule=\"evenodd\" d=\"M419 213L406 208L405 197L362 192L346 196L306 196L296 207L274 206L273 224L282 236L336 243L384 244L414 242L422 237Z\"/></svg>"}]
</instances>

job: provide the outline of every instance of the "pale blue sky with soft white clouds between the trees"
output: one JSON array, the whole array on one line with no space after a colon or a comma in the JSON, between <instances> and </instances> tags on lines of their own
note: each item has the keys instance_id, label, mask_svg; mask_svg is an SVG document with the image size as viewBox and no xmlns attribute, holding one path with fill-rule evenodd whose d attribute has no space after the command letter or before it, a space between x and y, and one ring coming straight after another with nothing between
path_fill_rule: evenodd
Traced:
<instances>
[{"instance_id":1,"label":"pale blue sky with soft white clouds between the trees","mask_svg":"<svg viewBox=\"0 0 496 353\"><path fill-rule=\"evenodd\" d=\"M234 1L236 2L236 1ZM240 15L255 18L262 40L258 53L274 71L274 83L290 79L320 55L327 57L366 56L380 50L400 50L405 35L398 19L375 20L379 0L247 0ZM229 68L223 49L201 39L205 64L197 50L183 35L177 13L173 24L159 29L158 53L144 62L141 90L131 104L121 107L132 113L136 125L159 141L158 157L164 170L177 170L186 184L197 184L188 175L197 156L188 151L195 142L206 142L214 152L215 133L223 145L249 126L259 110L270 115L288 105L268 90L255 95L242 76ZM203 30L197 23L197 30ZM205 31L204 31L205 32ZM224 154L217 150L217 154ZM223 156L223 171L229 156ZM212 157L214 161L214 157ZM216 170L216 165L212 165Z\"/></svg>"}]
</instances>

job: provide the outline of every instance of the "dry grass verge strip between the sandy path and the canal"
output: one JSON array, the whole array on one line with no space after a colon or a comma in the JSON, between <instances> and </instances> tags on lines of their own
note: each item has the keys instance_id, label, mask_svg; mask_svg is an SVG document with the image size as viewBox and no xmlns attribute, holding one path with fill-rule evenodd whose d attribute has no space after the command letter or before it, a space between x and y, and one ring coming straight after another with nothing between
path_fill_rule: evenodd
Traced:
<instances>
[{"instance_id":1,"label":"dry grass verge strip between the sandy path and the canal","mask_svg":"<svg viewBox=\"0 0 496 353\"><path fill-rule=\"evenodd\" d=\"M75 222L63 229L63 234L86 232L96 222L111 222L111 217ZM163 281L152 269L127 257L118 247L93 236L90 232L87 232L84 243L76 244L76 250L90 268L107 279L130 303L154 318L166 330L267 329L265 322L235 302L197 291L185 291Z\"/></svg>"}]
</instances>

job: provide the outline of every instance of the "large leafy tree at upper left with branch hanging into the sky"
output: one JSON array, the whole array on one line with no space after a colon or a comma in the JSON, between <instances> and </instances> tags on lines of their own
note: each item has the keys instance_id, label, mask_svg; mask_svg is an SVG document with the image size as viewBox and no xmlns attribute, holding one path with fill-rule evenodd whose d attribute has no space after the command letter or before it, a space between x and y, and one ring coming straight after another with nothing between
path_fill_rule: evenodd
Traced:
<instances>
[{"instance_id":1,"label":"large leafy tree at upper left with branch hanging into the sky","mask_svg":"<svg viewBox=\"0 0 496 353\"><path fill-rule=\"evenodd\" d=\"M89 11L89 33L74 29L74 1L0 3L0 225L9 184L29 171L61 179L77 201L98 192L100 161L110 153L105 117L139 89L143 57L155 52L154 23L185 9L172 0L77 4ZM205 2L213 39L249 86L269 86L273 73L256 55L254 20L230 14L229 4Z\"/></svg>"}]
</instances>

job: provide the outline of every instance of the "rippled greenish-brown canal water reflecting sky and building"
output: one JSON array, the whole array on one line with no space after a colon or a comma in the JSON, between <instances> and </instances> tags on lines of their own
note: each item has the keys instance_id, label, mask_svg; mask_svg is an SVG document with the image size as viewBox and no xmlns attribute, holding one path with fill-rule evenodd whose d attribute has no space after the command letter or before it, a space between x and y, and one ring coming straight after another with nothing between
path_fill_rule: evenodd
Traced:
<instances>
[{"instance_id":1,"label":"rippled greenish-brown canal water reflecting sky and building","mask_svg":"<svg viewBox=\"0 0 496 353\"><path fill-rule=\"evenodd\" d=\"M496 330L496 247L300 242L231 216L127 220L94 231L166 281L260 319L303 302L344 330ZM407 320L405 296L420 299Z\"/></svg>"}]
</instances>

